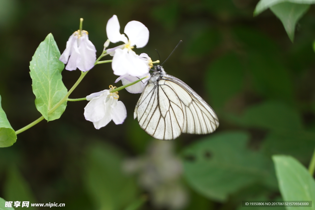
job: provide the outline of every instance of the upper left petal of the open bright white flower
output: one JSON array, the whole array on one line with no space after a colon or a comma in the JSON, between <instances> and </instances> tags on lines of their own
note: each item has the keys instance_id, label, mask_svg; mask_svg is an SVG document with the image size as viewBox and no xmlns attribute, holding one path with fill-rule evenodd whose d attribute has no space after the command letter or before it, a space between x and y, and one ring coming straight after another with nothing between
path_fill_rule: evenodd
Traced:
<instances>
[{"instance_id":1,"label":"upper left petal of the open bright white flower","mask_svg":"<svg viewBox=\"0 0 315 210\"><path fill-rule=\"evenodd\" d=\"M124 43L128 43L127 37L124 34L120 34L120 25L117 16L114 14L107 22L106 25L106 33L107 38L112 43L117 43L119 41L123 41Z\"/></svg>"}]
</instances>

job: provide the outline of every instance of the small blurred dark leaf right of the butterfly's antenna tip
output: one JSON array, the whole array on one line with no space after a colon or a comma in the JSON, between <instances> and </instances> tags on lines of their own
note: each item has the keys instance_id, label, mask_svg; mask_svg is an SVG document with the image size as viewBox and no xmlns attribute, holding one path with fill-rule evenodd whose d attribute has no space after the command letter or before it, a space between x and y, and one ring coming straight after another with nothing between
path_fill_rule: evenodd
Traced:
<instances>
[{"instance_id":1,"label":"small blurred dark leaf right of the butterfly's antenna tip","mask_svg":"<svg viewBox=\"0 0 315 210\"><path fill-rule=\"evenodd\" d=\"M221 36L217 29L203 29L188 40L187 56L202 58L221 43Z\"/></svg>"}]
</instances>

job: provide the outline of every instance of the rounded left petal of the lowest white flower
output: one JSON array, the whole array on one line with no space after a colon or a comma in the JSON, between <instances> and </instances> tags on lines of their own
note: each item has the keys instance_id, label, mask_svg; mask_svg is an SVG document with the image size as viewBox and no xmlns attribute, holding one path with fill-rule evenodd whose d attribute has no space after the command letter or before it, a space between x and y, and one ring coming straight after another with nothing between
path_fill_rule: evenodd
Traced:
<instances>
[{"instance_id":1,"label":"rounded left petal of the lowest white flower","mask_svg":"<svg viewBox=\"0 0 315 210\"><path fill-rule=\"evenodd\" d=\"M86 120L91 122L97 122L105 116L106 107L104 101L106 95L93 98L85 107L84 107L84 117Z\"/></svg>"}]
</instances>

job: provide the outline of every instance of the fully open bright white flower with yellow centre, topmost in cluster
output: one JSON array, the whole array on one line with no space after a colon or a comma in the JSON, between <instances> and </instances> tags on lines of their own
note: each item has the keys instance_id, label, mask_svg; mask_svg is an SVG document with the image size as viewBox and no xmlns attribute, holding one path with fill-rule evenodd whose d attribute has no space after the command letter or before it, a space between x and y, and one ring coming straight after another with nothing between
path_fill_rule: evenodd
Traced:
<instances>
[{"instance_id":1,"label":"fully open bright white flower with yellow centre, topmost in cluster","mask_svg":"<svg viewBox=\"0 0 315 210\"><path fill-rule=\"evenodd\" d=\"M148 28L139 21L130 21L124 29L124 34L120 34L120 25L116 15L113 15L107 22L106 33L112 43L119 41L125 44L115 48L107 49L107 53L114 56L112 69L115 75L131 75L140 77L149 72L150 67L144 63L139 56L132 50L134 46L142 48L149 40Z\"/></svg>"}]
</instances>

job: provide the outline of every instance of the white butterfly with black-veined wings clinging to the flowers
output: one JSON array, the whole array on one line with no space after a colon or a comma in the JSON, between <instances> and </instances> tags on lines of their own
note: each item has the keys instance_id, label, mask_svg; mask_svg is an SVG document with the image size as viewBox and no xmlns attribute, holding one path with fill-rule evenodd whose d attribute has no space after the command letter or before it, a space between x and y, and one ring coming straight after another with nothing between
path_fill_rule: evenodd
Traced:
<instances>
[{"instance_id":1,"label":"white butterfly with black-veined wings clinging to the flowers","mask_svg":"<svg viewBox=\"0 0 315 210\"><path fill-rule=\"evenodd\" d=\"M215 111L192 88L154 67L136 104L134 119L150 136L176 139L181 133L207 134L219 126Z\"/></svg>"}]
</instances>

